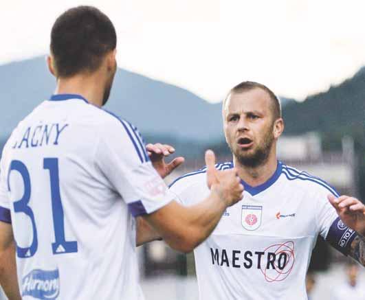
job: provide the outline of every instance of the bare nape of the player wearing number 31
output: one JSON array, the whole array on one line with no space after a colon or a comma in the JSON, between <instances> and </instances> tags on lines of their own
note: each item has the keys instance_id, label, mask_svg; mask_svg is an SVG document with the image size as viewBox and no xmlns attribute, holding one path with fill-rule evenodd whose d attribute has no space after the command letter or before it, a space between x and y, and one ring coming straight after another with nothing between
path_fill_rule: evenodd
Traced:
<instances>
[{"instance_id":1,"label":"bare nape of the player wearing number 31","mask_svg":"<svg viewBox=\"0 0 365 300\"><path fill-rule=\"evenodd\" d=\"M102 78L98 73L75 75L70 78L57 78L55 94L78 94L91 104L101 107L104 97Z\"/></svg>"}]
</instances>

